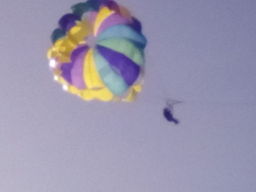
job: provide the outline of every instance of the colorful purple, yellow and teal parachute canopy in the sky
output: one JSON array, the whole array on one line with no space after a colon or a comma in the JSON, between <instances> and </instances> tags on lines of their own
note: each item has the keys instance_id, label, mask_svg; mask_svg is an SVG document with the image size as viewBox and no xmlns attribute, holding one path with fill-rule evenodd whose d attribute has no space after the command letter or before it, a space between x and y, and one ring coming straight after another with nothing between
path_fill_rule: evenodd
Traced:
<instances>
[{"instance_id":1,"label":"colorful purple, yellow and teal parachute canopy in the sky","mask_svg":"<svg viewBox=\"0 0 256 192\"><path fill-rule=\"evenodd\" d=\"M86 101L133 101L146 47L140 22L113 0L88 0L72 11L51 36L55 81Z\"/></svg>"}]
</instances>

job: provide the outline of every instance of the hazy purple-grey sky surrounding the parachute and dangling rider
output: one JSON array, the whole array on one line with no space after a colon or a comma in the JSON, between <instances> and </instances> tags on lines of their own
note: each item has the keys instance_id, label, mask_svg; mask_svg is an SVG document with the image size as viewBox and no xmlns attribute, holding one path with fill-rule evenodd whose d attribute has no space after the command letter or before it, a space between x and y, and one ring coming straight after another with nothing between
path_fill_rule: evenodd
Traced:
<instances>
[{"instance_id":1,"label":"hazy purple-grey sky surrounding the parachute and dangling rider","mask_svg":"<svg viewBox=\"0 0 256 192\"><path fill-rule=\"evenodd\" d=\"M1 0L0 192L255 192L256 1L118 0L148 40L133 103L53 81L50 35L78 2Z\"/></svg>"}]
</instances>

